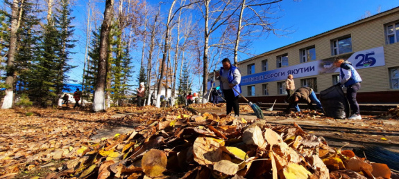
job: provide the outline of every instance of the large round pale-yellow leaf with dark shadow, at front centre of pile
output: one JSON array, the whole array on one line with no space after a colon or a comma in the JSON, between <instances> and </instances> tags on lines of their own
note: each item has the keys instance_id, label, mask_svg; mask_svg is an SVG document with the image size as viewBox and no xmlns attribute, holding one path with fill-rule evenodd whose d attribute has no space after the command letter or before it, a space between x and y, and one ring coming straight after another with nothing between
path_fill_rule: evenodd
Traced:
<instances>
[{"instance_id":1,"label":"large round pale-yellow leaf with dark shadow, at front centre of pile","mask_svg":"<svg viewBox=\"0 0 399 179\"><path fill-rule=\"evenodd\" d=\"M222 149L220 147L223 145L223 140L198 137L193 146L194 160L203 165L219 162L222 158Z\"/></svg>"}]
</instances>

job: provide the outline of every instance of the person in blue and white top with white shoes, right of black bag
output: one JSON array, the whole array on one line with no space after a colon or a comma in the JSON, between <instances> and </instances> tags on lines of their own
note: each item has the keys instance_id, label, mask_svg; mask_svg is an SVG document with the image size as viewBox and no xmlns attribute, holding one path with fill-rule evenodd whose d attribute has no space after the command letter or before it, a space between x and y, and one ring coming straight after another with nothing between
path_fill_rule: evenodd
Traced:
<instances>
[{"instance_id":1,"label":"person in blue and white top with white shoes, right of black bag","mask_svg":"<svg viewBox=\"0 0 399 179\"><path fill-rule=\"evenodd\" d=\"M336 85L346 87L346 98L350 104L350 109L353 111L353 115L348 119L362 120L362 116L360 116L359 104L357 104L356 100L356 93L360 89L362 78L350 62L345 61L340 57L335 58L334 66L340 67L339 77L341 80Z\"/></svg>"}]
</instances>

